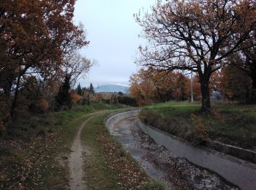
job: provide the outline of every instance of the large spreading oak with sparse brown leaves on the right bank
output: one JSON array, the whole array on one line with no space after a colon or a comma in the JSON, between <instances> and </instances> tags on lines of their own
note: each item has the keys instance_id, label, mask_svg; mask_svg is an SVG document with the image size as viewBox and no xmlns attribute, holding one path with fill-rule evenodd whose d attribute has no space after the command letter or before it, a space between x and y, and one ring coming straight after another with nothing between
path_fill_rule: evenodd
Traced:
<instances>
[{"instance_id":1,"label":"large spreading oak with sparse brown leaves on the right bank","mask_svg":"<svg viewBox=\"0 0 256 190\"><path fill-rule=\"evenodd\" d=\"M143 28L147 47L139 47L143 66L162 70L197 72L202 91L202 111L211 108L209 80L240 50L255 30L255 1L170 0L135 15Z\"/></svg>"}]
</instances>

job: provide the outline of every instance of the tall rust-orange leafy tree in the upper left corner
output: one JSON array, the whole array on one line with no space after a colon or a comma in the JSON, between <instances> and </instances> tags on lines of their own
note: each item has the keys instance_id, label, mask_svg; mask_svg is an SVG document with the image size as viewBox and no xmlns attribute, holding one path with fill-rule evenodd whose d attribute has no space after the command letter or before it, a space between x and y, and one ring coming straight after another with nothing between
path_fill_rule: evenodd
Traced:
<instances>
[{"instance_id":1,"label":"tall rust-orange leafy tree in the upper left corner","mask_svg":"<svg viewBox=\"0 0 256 190\"><path fill-rule=\"evenodd\" d=\"M75 0L0 2L0 89L13 115L29 75L63 75L64 55L88 45L82 26L72 23Z\"/></svg>"}]
</instances>

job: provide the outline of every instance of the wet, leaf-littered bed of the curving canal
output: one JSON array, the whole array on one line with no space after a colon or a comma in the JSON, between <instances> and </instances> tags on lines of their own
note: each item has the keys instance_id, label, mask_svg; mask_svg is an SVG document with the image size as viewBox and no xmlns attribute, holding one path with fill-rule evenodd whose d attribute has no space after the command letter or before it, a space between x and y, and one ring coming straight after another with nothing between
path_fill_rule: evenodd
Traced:
<instances>
[{"instance_id":1,"label":"wet, leaf-littered bed of the curving canal","mask_svg":"<svg viewBox=\"0 0 256 190\"><path fill-rule=\"evenodd\" d=\"M197 167L158 146L140 130L138 117L119 121L111 134L148 175L165 183L170 189L237 189L214 172Z\"/></svg>"}]
</instances>

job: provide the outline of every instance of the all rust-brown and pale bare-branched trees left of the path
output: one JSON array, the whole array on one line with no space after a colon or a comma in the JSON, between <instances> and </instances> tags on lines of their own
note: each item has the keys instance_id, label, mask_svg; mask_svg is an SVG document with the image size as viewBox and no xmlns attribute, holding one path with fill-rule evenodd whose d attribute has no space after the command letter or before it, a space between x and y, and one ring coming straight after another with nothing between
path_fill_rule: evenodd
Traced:
<instances>
[{"instance_id":1,"label":"all rust-brown and pale bare-branched trees left of the path","mask_svg":"<svg viewBox=\"0 0 256 190\"><path fill-rule=\"evenodd\" d=\"M74 0L0 2L3 121L26 107L54 107L65 76L77 79L92 66L77 54L89 41L83 26L72 21L74 9Z\"/></svg>"}]
</instances>

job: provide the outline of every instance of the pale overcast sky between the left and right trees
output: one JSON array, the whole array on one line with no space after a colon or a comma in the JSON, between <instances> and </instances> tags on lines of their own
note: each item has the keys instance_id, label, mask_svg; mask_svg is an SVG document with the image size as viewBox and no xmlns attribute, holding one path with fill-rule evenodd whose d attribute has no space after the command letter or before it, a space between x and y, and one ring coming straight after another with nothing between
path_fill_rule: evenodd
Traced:
<instances>
[{"instance_id":1,"label":"pale overcast sky between the left and right trees","mask_svg":"<svg viewBox=\"0 0 256 190\"><path fill-rule=\"evenodd\" d=\"M138 46L140 26L134 13L143 7L149 9L155 0L78 0L75 5L75 23L83 23L87 31L89 47L81 51L83 56L96 59L94 66L81 86L104 84L129 85L129 76L138 70L134 57Z\"/></svg>"}]
</instances>

